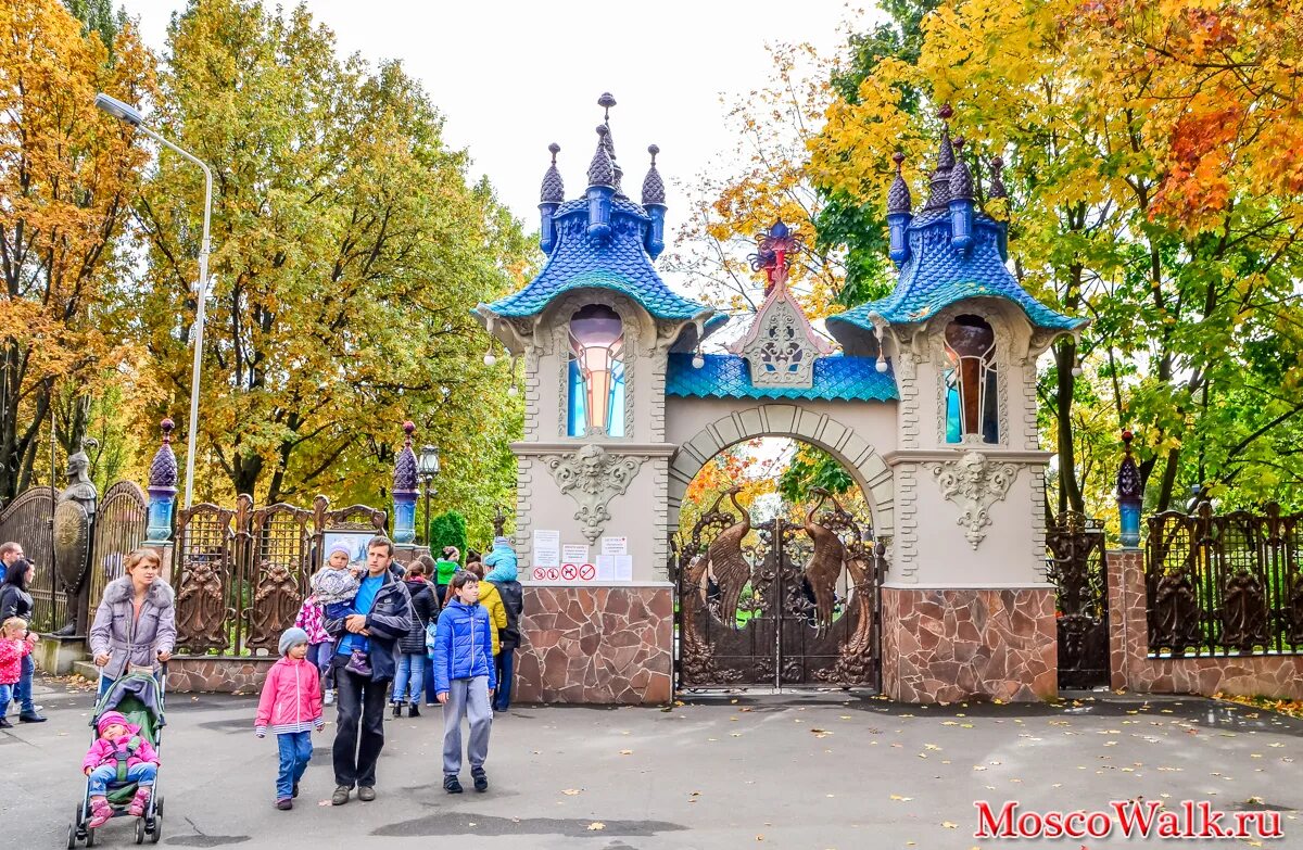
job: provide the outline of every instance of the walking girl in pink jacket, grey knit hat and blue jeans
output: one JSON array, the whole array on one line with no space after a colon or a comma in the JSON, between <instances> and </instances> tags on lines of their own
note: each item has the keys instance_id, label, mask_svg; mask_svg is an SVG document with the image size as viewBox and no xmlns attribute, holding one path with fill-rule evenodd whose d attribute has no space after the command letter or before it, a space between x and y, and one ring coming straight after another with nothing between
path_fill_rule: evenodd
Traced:
<instances>
[{"instance_id":1,"label":"walking girl in pink jacket, grey knit hat and blue jeans","mask_svg":"<svg viewBox=\"0 0 1303 850\"><path fill-rule=\"evenodd\" d=\"M280 747L280 772L276 774L276 808L294 807L298 780L304 778L308 760L313 757L313 729L321 731L322 688L317 666L308 662L308 632L287 628L280 636L281 658L271 665L262 683L254 734L267 735L267 726L276 734Z\"/></svg>"}]
</instances>

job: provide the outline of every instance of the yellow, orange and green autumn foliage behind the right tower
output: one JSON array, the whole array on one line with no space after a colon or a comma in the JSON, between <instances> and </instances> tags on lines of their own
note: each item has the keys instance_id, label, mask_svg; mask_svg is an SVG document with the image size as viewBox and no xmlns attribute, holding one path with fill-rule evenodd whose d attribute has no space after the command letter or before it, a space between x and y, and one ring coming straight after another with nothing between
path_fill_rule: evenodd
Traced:
<instances>
[{"instance_id":1,"label":"yellow, orange and green autumn foliage behind the right tower","mask_svg":"<svg viewBox=\"0 0 1303 850\"><path fill-rule=\"evenodd\" d=\"M1283 129L1298 121L1282 96L1298 68L1281 59L1299 52L1295 7L941 5L921 20L916 56L876 61L829 110L812 179L866 206L883 206L891 151L909 155L915 177L928 166L920 154L937 124L913 108L915 93L955 104L979 172L995 154L1010 163L1001 211L1016 274L1058 309L1095 319L1080 347L1055 347L1042 378L1061 507L1087 507L1079 459L1096 473L1115 468L1105 435L1122 425L1141 430L1153 507L1173 505L1178 482L1218 493L1234 475L1248 498L1268 491L1251 480L1299 484L1296 463L1282 478L1251 462L1291 451L1272 446L1299 413L1289 391L1298 193L1285 164L1296 139ZM1253 369L1255 342L1282 351L1281 374ZM1240 417L1213 416L1224 404L1264 415L1226 428ZM1111 413L1111 428L1093 412L1074 416L1078 405ZM1095 491L1096 510L1105 493Z\"/></svg>"}]
</instances>

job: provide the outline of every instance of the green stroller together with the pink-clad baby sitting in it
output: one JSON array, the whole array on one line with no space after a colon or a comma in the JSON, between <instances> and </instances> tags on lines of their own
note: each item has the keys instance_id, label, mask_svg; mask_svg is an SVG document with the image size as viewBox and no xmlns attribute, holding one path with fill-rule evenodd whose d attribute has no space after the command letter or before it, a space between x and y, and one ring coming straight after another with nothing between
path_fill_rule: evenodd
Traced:
<instances>
[{"instance_id":1,"label":"green stroller together with the pink-clad baby sitting in it","mask_svg":"<svg viewBox=\"0 0 1303 850\"><path fill-rule=\"evenodd\" d=\"M158 843L163 833L163 798L156 789L163 701L159 678L132 673L113 682L95 705L90 722L95 739L82 761L86 791L68 828L69 847L78 840L94 846L95 830L117 816L137 819L136 843L146 836Z\"/></svg>"}]
</instances>

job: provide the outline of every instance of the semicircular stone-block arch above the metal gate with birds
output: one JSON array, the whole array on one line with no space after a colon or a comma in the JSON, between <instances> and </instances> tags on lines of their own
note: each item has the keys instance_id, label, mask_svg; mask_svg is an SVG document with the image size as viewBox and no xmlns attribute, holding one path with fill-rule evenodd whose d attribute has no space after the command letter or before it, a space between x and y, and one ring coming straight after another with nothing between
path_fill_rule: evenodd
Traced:
<instances>
[{"instance_id":1,"label":"semicircular stone-block arch above the metal gate with birds","mask_svg":"<svg viewBox=\"0 0 1303 850\"><path fill-rule=\"evenodd\" d=\"M734 411L680 443L670 459L667 535L679 527L683 495L701 467L728 446L757 437L790 437L837 458L864 493L873 512L874 535L890 540L895 529L895 484L877 448L827 413L794 404L757 404Z\"/></svg>"}]
</instances>

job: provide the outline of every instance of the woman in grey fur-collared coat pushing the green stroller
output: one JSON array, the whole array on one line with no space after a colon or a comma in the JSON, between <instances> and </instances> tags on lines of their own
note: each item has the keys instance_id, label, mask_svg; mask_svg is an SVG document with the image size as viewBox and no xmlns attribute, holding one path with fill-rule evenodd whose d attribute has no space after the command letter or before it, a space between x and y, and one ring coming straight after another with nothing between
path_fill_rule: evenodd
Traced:
<instances>
[{"instance_id":1,"label":"woman in grey fur-collared coat pushing the green stroller","mask_svg":"<svg viewBox=\"0 0 1303 850\"><path fill-rule=\"evenodd\" d=\"M100 696L132 667L150 667L172 657L176 644L176 609L172 588L159 578L163 562L152 549L126 557L126 575L104 588L90 627L90 652L103 670Z\"/></svg>"}]
</instances>

